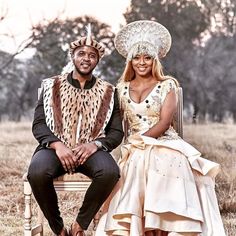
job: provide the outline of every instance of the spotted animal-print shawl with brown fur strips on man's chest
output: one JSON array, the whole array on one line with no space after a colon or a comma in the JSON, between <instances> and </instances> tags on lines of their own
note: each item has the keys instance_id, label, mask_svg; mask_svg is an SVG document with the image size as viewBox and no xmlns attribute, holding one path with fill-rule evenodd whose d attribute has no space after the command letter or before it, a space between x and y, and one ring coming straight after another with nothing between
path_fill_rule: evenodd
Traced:
<instances>
[{"instance_id":1,"label":"spotted animal-print shawl with brown fur strips on man's chest","mask_svg":"<svg viewBox=\"0 0 236 236\"><path fill-rule=\"evenodd\" d=\"M105 136L113 106L115 88L96 79L91 89L73 87L67 75L43 81L47 126L68 147Z\"/></svg>"}]
</instances>

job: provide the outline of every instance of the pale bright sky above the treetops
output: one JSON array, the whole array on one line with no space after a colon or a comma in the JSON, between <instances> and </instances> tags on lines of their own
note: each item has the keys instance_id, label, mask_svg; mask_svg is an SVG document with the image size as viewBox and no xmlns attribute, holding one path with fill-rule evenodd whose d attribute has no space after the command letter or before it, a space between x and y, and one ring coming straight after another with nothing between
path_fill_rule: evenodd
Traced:
<instances>
[{"instance_id":1,"label":"pale bright sky above the treetops","mask_svg":"<svg viewBox=\"0 0 236 236\"><path fill-rule=\"evenodd\" d=\"M14 53L30 34L32 24L57 16L62 19L93 16L111 25L116 33L125 24L123 13L129 5L130 0L0 0L0 17L7 12L0 22L0 49ZM9 40L5 34L14 35L15 40Z\"/></svg>"}]
</instances>

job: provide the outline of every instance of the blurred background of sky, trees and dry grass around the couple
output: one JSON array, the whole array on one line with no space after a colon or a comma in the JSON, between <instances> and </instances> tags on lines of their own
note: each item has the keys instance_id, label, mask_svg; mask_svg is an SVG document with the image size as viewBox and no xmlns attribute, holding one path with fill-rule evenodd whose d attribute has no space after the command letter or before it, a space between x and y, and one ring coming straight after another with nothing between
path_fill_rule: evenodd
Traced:
<instances>
[{"instance_id":1,"label":"blurred background of sky, trees and dry grass around the couple","mask_svg":"<svg viewBox=\"0 0 236 236\"><path fill-rule=\"evenodd\" d=\"M114 49L115 34L143 19L172 35L162 64L184 91L184 139L221 164L217 198L227 236L236 235L236 0L0 0L1 236L23 235L22 176L37 146L31 122L41 81L61 73L68 43L91 23L107 46L96 75L116 84L125 60ZM59 197L67 226L80 199ZM35 211L33 201L33 222ZM52 235L47 223L45 235Z\"/></svg>"}]
</instances>

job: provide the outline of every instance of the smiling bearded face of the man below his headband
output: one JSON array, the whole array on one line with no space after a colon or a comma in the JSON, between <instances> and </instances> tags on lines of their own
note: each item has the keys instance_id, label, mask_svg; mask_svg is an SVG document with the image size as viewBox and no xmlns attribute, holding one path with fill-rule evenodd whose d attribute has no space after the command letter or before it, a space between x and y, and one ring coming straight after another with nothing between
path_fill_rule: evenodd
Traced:
<instances>
[{"instance_id":1,"label":"smiling bearded face of the man below his headband","mask_svg":"<svg viewBox=\"0 0 236 236\"><path fill-rule=\"evenodd\" d=\"M79 74L89 75L98 63L98 52L93 47L81 46L75 49L72 60Z\"/></svg>"}]
</instances>

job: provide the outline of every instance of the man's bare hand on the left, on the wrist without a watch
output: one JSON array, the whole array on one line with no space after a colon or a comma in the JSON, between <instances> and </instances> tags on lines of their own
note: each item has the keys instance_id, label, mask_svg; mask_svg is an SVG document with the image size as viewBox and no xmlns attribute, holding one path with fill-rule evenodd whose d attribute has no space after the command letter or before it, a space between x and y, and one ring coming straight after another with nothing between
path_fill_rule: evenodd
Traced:
<instances>
[{"instance_id":1,"label":"man's bare hand on the left, on the wrist without a watch","mask_svg":"<svg viewBox=\"0 0 236 236\"><path fill-rule=\"evenodd\" d=\"M72 150L60 141L51 143L50 148L55 150L65 171L69 174L73 174L77 166L77 158L73 154Z\"/></svg>"}]
</instances>

